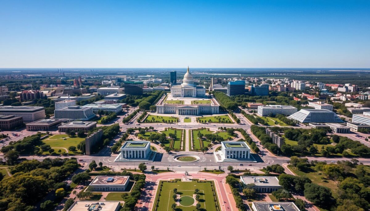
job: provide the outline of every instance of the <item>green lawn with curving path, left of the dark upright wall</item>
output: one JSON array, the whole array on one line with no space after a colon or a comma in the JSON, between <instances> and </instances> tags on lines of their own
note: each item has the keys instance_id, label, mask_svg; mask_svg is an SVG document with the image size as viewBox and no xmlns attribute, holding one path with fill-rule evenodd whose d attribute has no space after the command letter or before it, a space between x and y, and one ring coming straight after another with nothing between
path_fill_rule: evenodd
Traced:
<instances>
[{"instance_id":1,"label":"green lawn with curving path, left of the dark upright wall","mask_svg":"<svg viewBox=\"0 0 370 211\"><path fill-rule=\"evenodd\" d=\"M64 140L65 139L65 140ZM47 139L42 140L44 144L50 145L52 149L55 150L55 153L58 153L58 150L60 149L62 152L65 152L65 149L68 149L70 146L76 146L81 141L84 141L85 138L80 138L77 136L74 137L68 137L66 134L60 134L60 135L53 135L50 136ZM78 152L78 151L77 151ZM75 154L74 152L69 151L70 154ZM44 152L43 154L50 154L49 152Z\"/></svg>"}]
</instances>

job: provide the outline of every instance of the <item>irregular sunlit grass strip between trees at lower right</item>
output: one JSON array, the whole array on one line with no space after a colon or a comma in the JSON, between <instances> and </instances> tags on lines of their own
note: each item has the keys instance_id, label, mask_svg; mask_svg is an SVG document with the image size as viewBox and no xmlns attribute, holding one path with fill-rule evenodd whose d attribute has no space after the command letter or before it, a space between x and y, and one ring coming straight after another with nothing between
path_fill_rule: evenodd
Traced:
<instances>
[{"instance_id":1,"label":"irregular sunlit grass strip between trees at lower right","mask_svg":"<svg viewBox=\"0 0 370 211\"><path fill-rule=\"evenodd\" d=\"M313 168L313 166L310 166L306 172L302 172L300 170L297 170L295 167L293 167L292 165L288 165L288 168L295 174L297 174L298 176L306 176L308 177L310 180L312 180L312 183L315 183L315 184L318 184L320 186L324 186L324 187L327 187L329 188L330 190L332 190L332 194L333 196L336 196L336 193L337 193L337 184L332 181L332 180L329 180L329 179L322 179L323 177L325 177L324 174L320 173L320 172L316 172L315 169Z\"/></svg>"}]
</instances>

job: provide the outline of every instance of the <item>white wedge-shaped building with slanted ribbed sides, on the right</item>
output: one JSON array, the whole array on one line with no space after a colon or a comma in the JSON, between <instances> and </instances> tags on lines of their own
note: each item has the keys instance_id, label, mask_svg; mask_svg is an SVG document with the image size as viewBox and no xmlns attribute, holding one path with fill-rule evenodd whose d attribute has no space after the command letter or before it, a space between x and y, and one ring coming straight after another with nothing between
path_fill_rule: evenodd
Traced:
<instances>
[{"instance_id":1,"label":"white wedge-shaped building with slanted ribbed sides, on the right","mask_svg":"<svg viewBox=\"0 0 370 211\"><path fill-rule=\"evenodd\" d=\"M325 109L301 109L300 111L290 115L288 118L292 120L297 120L301 123L343 122L343 120L341 120L336 113Z\"/></svg>"}]
</instances>

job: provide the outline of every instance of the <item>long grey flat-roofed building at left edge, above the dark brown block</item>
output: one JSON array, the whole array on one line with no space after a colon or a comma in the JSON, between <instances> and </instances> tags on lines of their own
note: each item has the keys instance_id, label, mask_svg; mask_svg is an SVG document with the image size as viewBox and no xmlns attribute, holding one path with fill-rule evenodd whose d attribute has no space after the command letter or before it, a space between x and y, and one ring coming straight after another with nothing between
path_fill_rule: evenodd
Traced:
<instances>
[{"instance_id":1,"label":"long grey flat-roofed building at left edge, above the dark brown block","mask_svg":"<svg viewBox=\"0 0 370 211\"><path fill-rule=\"evenodd\" d=\"M0 115L22 117L23 122L34 122L45 118L45 108L41 106L1 106Z\"/></svg>"}]
</instances>

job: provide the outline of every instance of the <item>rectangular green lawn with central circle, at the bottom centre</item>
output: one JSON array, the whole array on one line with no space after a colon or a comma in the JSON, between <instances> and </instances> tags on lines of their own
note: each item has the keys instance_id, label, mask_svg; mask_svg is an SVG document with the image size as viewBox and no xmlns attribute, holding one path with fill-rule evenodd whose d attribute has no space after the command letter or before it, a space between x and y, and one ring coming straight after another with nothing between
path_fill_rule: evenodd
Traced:
<instances>
[{"instance_id":1,"label":"rectangular green lawn with central circle, at the bottom centre","mask_svg":"<svg viewBox=\"0 0 370 211\"><path fill-rule=\"evenodd\" d=\"M162 181L159 182L161 184ZM172 211L171 205L175 203L174 199L172 198L172 195L174 195L174 188L177 188L177 193L180 194L180 205L176 206L176 210L182 210L182 211L194 211L196 210L195 206L192 205L192 202L195 200L195 198L192 199L194 190L196 188L199 189L199 201L198 203L201 204L201 210L207 210L207 211L217 211L217 208L215 204L220 208L219 201L217 198L217 194L214 193L212 190L212 186L214 187L214 184L212 181L191 181L191 182L168 182L163 181L162 191L158 188L156 198L155 198L155 204L158 202L158 211ZM159 193L160 192L160 193ZM215 197L213 197L213 194L215 194ZM160 196L159 196L160 195ZM184 197L181 200L181 197ZM182 204L182 205L181 205ZM154 206L155 208L155 206ZM153 209L154 210L154 209Z\"/></svg>"}]
</instances>

